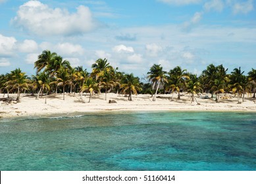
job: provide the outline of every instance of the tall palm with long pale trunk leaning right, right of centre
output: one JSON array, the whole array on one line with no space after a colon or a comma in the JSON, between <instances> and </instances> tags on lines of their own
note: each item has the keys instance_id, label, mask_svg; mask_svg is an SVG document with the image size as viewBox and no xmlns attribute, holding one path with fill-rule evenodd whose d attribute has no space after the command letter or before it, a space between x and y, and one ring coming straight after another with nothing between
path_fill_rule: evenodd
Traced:
<instances>
[{"instance_id":1,"label":"tall palm with long pale trunk leaning right, right of centre","mask_svg":"<svg viewBox=\"0 0 256 184\"><path fill-rule=\"evenodd\" d=\"M153 66L151 66L150 71L147 72L147 74L148 74L149 80L153 82L153 88L157 83L157 89L155 91L155 96L153 98L153 101L155 101L160 83L164 84L164 81L167 82L167 79L165 76L166 72L163 71L163 67L161 66L161 64L153 64Z\"/></svg>"}]
</instances>

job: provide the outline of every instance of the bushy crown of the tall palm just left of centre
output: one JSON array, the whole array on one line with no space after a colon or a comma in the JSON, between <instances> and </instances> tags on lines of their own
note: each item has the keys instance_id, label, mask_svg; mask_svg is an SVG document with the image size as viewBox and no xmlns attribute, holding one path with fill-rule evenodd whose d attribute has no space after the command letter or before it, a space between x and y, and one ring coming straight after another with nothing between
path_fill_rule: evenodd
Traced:
<instances>
[{"instance_id":1,"label":"bushy crown of the tall palm just left of centre","mask_svg":"<svg viewBox=\"0 0 256 184\"><path fill-rule=\"evenodd\" d=\"M95 61L94 64L91 65L92 72L91 76L95 77L96 80L98 80L99 77L103 76L105 70L110 70L112 66L109 65L109 62L107 62L107 59L99 58Z\"/></svg>"}]
</instances>

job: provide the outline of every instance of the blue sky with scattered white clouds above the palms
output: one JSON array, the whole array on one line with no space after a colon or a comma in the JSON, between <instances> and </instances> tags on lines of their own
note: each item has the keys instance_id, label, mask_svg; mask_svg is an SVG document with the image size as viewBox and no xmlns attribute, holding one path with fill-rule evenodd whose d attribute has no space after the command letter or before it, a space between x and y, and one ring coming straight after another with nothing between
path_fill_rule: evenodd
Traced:
<instances>
[{"instance_id":1,"label":"blue sky with scattered white clouds above the palms","mask_svg":"<svg viewBox=\"0 0 256 184\"><path fill-rule=\"evenodd\" d=\"M0 0L0 74L35 74L45 49L72 66L107 58L142 77L153 64L201 74L256 68L255 0Z\"/></svg>"}]
</instances>

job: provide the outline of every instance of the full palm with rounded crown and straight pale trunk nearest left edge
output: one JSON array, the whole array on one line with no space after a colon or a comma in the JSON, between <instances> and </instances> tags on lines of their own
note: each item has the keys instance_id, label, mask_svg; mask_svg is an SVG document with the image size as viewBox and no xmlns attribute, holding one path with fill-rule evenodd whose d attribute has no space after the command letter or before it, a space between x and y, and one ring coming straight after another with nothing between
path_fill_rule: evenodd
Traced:
<instances>
[{"instance_id":1,"label":"full palm with rounded crown and straight pale trunk nearest left edge","mask_svg":"<svg viewBox=\"0 0 256 184\"><path fill-rule=\"evenodd\" d=\"M22 72L20 68L11 71L11 80L6 82L6 87L12 91L17 89L17 103L20 103L20 91L28 89L28 83L26 73Z\"/></svg>"}]
</instances>

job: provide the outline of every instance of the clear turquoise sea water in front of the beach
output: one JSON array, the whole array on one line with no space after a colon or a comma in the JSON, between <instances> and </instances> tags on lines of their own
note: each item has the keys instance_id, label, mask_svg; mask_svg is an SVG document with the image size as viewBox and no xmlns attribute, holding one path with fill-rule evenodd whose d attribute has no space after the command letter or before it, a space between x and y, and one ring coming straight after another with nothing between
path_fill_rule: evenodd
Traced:
<instances>
[{"instance_id":1,"label":"clear turquoise sea water in front of the beach","mask_svg":"<svg viewBox=\"0 0 256 184\"><path fill-rule=\"evenodd\" d=\"M0 170L256 170L256 114L3 119L0 154Z\"/></svg>"}]
</instances>

